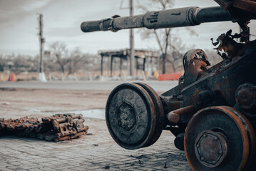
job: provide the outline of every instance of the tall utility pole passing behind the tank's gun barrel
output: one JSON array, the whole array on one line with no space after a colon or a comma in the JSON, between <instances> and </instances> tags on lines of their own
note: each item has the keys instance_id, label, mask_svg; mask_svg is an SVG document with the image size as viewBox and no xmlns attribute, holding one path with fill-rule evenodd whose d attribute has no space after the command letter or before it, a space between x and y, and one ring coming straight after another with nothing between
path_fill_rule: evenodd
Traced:
<instances>
[{"instance_id":1,"label":"tall utility pole passing behind the tank's gun barrel","mask_svg":"<svg viewBox=\"0 0 256 171\"><path fill-rule=\"evenodd\" d=\"M129 0L130 16L133 16L133 0ZM130 29L130 75L134 78L135 69L135 58L134 58L134 39L133 39L133 29Z\"/></svg>"}]
</instances>

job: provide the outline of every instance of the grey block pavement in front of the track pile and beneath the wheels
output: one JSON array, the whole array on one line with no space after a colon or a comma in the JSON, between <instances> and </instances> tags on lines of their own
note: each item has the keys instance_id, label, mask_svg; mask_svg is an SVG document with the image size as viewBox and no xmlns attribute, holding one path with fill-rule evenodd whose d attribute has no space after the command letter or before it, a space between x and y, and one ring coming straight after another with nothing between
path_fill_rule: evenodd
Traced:
<instances>
[{"instance_id":1,"label":"grey block pavement in front of the track pile and beneath the wheels","mask_svg":"<svg viewBox=\"0 0 256 171\"><path fill-rule=\"evenodd\" d=\"M0 138L0 170L191 170L168 131L150 147L125 150L113 141L104 120L86 118L85 125L91 135L65 142Z\"/></svg>"}]
</instances>

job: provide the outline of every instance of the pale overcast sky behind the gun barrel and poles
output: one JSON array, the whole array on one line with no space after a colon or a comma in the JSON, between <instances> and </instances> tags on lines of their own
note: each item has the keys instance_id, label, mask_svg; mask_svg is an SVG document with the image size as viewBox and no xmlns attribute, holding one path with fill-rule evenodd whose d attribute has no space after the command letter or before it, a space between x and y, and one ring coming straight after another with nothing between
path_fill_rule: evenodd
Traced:
<instances>
[{"instance_id":1,"label":"pale overcast sky behind the gun barrel and poles","mask_svg":"<svg viewBox=\"0 0 256 171\"><path fill-rule=\"evenodd\" d=\"M141 14L141 11L136 9L138 1L140 4L148 2L134 0L135 14ZM83 33L80 28L83 21L105 19L115 14L128 16L128 9L120 9L120 6L121 0L0 0L0 53L21 53L31 56L39 53L38 13L43 14L43 36L46 38L46 50L55 41L66 43L69 51L80 48L84 53L94 54L99 50L128 48L128 30L117 33L111 31ZM128 0L123 0L123 8L127 6ZM173 8L187 6L205 7L217 6L217 4L213 0L176 0ZM150 9L158 10L153 7ZM255 21L249 26L251 33L256 34ZM238 25L232 24L231 21L201 24L190 28L198 33L198 36L190 36L185 29L174 29L180 29L177 31L186 46L203 49L214 48L210 43L210 38L217 38L230 28L233 33L238 31ZM140 31L135 29L135 48L157 50L158 46L154 39L143 40Z\"/></svg>"}]
</instances>

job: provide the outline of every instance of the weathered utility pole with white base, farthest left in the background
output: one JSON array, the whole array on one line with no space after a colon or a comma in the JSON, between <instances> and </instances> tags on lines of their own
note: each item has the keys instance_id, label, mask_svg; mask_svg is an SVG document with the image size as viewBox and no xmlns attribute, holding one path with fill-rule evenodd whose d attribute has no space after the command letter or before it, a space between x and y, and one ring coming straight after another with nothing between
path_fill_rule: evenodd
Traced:
<instances>
[{"instance_id":1,"label":"weathered utility pole with white base, farthest left in the background","mask_svg":"<svg viewBox=\"0 0 256 171\"><path fill-rule=\"evenodd\" d=\"M40 43L40 66L39 66L39 80L45 82L46 76L43 73L43 14L39 14L39 43Z\"/></svg>"}]
</instances>

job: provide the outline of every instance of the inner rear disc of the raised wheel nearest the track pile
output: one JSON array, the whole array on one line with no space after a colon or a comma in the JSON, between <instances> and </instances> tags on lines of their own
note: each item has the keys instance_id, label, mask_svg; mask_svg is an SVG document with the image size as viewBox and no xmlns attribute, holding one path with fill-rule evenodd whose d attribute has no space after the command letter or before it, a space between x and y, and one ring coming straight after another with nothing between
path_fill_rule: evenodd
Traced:
<instances>
[{"instance_id":1,"label":"inner rear disc of the raised wheel nearest the track pile","mask_svg":"<svg viewBox=\"0 0 256 171\"><path fill-rule=\"evenodd\" d=\"M156 125L155 125L155 133L153 135L153 138L151 139L151 142L149 142L148 146L153 145L158 138L160 137L163 128L165 128L165 113L163 110L163 103L159 98L158 93L153 90L150 86L148 86L145 83L135 83L141 87L143 87L148 94L150 95L150 98L152 98L153 103L155 105L155 110L156 110Z\"/></svg>"}]
</instances>

